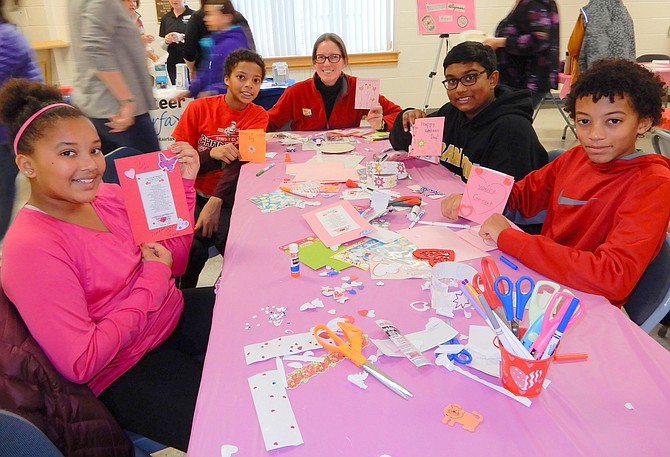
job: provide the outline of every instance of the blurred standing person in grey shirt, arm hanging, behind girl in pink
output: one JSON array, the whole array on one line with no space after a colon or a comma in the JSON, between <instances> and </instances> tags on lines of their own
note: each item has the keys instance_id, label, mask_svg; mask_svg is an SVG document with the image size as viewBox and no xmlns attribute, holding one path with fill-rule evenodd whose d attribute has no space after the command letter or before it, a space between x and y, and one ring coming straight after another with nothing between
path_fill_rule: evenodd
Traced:
<instances>
[{"instance_id":1,"label":"blurred standing person in grey shirt, arm hanging, behind girl in pink","mask_svg":"<svg viewBox=\"0 0 670 457\"><path fill-rule=\"evenodd\" d=\"M70 0L68 14L77 70L73 101L95 125L103 152L159 150L149 116L156 100L135 21L117 1Z\"/></svg>"}]
</instances>

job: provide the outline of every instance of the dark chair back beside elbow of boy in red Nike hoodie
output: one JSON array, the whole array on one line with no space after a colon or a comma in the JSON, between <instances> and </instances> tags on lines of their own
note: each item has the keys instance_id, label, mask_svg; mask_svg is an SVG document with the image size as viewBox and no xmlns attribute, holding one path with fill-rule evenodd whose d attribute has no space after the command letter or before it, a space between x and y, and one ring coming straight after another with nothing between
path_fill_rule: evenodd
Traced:
<instances>
[{"instance_id":1,"label":"dark chair back beside elbow of boy in red Nike hoodie","mask_svg":"<svg viewBox=\"0 0 670 457\"><path fill-rule=\"evenodd\" d=\"M628 317L649 333L670 312L670 234L624 305Z\"/></svg>"}]
</instances>

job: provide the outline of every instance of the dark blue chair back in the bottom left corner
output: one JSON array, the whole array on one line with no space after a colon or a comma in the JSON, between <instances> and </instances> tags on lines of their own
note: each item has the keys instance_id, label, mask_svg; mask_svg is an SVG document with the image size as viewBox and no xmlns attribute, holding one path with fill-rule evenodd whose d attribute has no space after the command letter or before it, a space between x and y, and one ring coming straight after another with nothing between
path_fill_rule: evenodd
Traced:
<instances>
[{"instance_id":1,"label":"dark blue chair back in the bottom left corner","mask_svg":"<svg viewBox=\"0 0 670 457\"><path fill-rule=\"evenodd\" d=\"M0 409L0 457L63 457L32 422Z\"/></svg>"}]
</instances>

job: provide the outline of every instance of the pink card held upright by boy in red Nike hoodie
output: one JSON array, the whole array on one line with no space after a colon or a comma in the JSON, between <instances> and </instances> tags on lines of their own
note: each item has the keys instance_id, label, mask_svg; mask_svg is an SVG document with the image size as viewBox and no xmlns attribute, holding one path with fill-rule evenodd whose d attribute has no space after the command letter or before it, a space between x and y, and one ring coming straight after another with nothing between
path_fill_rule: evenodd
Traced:
<instances>
[{"instance_id":1,"label":"pink card held upright by boy in red Nike hoodie","mask_svg":"<svg viewBox=\"0 0 670 457\"><path fill-rule=\"evenodd\" d=\"M510 175L474 165L458 215L481 224L492 214L502 214L513 184L514 178Z\"/></svg>"}]
</instances>

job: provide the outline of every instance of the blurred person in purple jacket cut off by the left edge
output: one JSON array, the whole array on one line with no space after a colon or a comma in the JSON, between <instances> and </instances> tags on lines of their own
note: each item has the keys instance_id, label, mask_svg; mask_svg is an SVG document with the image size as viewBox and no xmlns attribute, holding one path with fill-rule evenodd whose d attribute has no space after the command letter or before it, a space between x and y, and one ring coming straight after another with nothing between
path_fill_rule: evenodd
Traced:
<instances>
[{"instance_id":1,"label":"blurred person in purple jacket cut off by the left edge","mask_svg":"<svg viewBox=\"0 0 670 457\"><path fill-rule=\"evenodd\" d=\"M35 54L28 40L5 16L5 0L0 0L0 86L10 78L42 81L42 73L35 63ZM7 126L0 124L0 242L5 237L12 217L19 170L14 164L14 153L7 138Z\"/></svg>"}]
</instances>

